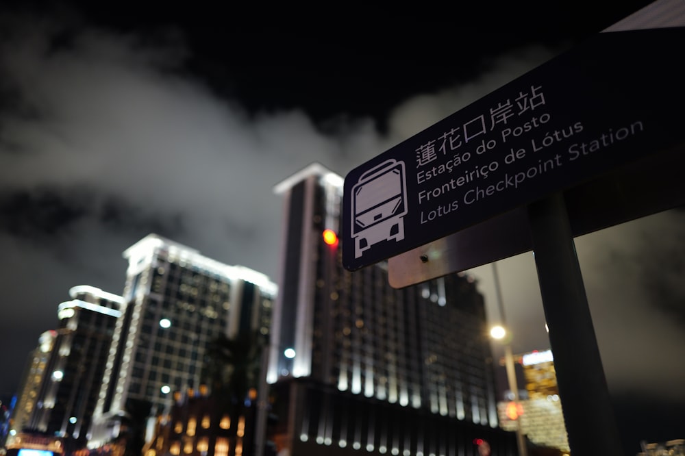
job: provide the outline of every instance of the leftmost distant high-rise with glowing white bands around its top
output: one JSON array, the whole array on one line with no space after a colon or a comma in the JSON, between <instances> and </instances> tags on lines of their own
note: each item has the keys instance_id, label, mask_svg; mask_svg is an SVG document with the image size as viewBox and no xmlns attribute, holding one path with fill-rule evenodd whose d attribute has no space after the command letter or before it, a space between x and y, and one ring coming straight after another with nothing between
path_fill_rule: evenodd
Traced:
<instances>
[{"instance_id":1,"label":"leftmost distant high-rise with glowing white bands around its top","mask_svg":"<svg viewBox=\"0 0 685 456\"><path fill-rule=\"evenodd\" d=\"M123 299L91 286L69 294L73 299L58 307L58 329L43 333L29 356L8 445L24 433L57 436L67 449L86 446Z\"/></svg>"}]
</instances>

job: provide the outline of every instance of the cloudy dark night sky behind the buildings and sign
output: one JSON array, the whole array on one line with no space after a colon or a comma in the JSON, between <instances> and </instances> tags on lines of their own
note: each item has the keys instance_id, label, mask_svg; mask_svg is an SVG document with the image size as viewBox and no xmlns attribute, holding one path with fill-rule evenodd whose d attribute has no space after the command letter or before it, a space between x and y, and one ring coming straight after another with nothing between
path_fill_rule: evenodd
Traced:
<instances>
[{"instance_id":1,"label":"cloudy dark night sky behind the buildings and sign","mask_svg":"<svg viewBox=\"0 0 685 456\"><path fill-rule=\"evenodd\" d=\"M0 394L69 288L123 292L121 253L148 233L275 281L279 181L312 162L345 177L647 3L4 2ZM685 437L684 221L577 239L628 454ZM498 270L514 352L549 348L532 255ZM471 273L498 320L490 267Z\"/></svg>"}]
</instances>

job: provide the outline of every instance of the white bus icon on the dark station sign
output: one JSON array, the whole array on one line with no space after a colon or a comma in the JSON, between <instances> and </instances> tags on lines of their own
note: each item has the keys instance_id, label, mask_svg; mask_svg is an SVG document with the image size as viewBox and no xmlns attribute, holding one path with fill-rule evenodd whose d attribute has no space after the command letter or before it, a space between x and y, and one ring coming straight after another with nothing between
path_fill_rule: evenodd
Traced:
<instances>
[{"instance_id":1,"label":"white bus icon on the dark station sign","mask_svg":"<svg viewBox=\"0 0 685 456\"><path fill-rule=\"evenodd\" d=\"M352 187L354 257L382 240L404 239L407 185L404 162L393 158L362 174Z\"/></svg>"}]
</instances>

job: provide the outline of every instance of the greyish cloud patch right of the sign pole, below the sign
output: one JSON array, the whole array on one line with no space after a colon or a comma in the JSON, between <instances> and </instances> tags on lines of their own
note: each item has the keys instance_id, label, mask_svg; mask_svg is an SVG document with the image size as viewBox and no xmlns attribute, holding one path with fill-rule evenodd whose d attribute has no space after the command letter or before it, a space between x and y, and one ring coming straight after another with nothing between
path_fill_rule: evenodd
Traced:
<instances>
[{"instance_id":1,"label":"greyish cloud patch right of the sign pole, below the sign","mask_svg":"<svg viewBox=\"0 0 685 456\"><path fill-rule=\"evenodd\" d=\"M671 210L577 241L597 343L616 392L650 390L685 402L684 223L685 214Z\"/></svg>"}]
</instances>

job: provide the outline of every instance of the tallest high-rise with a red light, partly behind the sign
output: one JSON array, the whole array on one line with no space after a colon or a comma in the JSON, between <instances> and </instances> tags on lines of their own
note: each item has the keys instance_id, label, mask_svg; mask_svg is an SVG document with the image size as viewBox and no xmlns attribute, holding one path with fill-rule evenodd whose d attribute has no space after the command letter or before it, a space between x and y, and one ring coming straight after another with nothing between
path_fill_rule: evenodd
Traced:
<instances>
[{"instance_id":1,"label":"tallest high-rise with a red light, partly behind the sign","mask_svg":"<svg viewBox=\"0 0 685 456\"><path fill-rule=\"evenodd\" d=\"M350 273L333 236L343 179L313 164L275 192L286 215L267 375L277 449L454 456L482 439L493 455L513 454L473 280L396 290L384 263Z\"/></svg>"}]
</instances>

